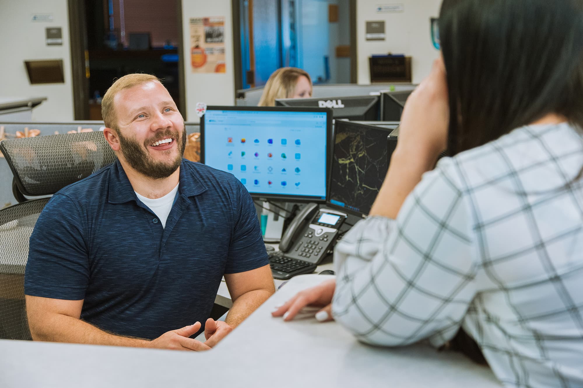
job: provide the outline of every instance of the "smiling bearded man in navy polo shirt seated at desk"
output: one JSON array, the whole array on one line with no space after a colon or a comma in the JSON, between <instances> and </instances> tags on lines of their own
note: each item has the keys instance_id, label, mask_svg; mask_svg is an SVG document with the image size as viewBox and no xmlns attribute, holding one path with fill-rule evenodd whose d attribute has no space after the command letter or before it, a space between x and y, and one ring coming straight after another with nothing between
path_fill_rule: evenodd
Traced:
<instances>
[{"instance_id":1,"label":"smiling bearded man in navy polo shirt seated at desk","mask_svg":"<svg viewBox=\"0 0 583 388\"><path fill-rule=\"evenodd\" d=\"M184 119L155 76L121 77L101 110L118 160L56 193L30 238L33 339L208 350L275 292L253 201L182 158ZM233 307L216 322L223 276ZM189 338L202 322L204 343Z\"/></svg>"}]
</instances>

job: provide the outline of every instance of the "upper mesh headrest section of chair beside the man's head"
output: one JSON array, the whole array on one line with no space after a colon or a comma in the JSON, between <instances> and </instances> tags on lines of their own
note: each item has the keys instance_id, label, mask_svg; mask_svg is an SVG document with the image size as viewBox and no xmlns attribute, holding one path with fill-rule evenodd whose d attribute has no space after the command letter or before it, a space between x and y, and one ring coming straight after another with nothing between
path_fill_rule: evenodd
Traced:
<instances>
[{"instance_id":1,"label":"upper mesh headrest section of chair beside the man's head","mask_svg":"<svg viewBox=\"0 0 583 388\"><path fill-rule=\"evenodd\" d=\"M3 140L0 151L26 196L54 194L115 161L103 132Z\"/></svg>"}]
</instances>

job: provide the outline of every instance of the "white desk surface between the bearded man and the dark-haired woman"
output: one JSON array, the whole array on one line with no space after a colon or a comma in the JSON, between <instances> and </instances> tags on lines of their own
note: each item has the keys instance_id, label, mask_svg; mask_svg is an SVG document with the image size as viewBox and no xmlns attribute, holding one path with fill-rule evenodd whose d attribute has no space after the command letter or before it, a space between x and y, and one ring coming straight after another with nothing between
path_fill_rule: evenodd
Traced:
<instances>
[{"instance_id":1,"label":"white desk surface between the bearded man and the dark-haired woman","mask_svg":"<svg viewBox=\"0 0 583 388\"><path fill-rule=\"evenodd\" d=\"M454 352L374 348L335 322L271 317L274 305L326 277L293 278L207 352L0 340L0 387L501 386Z\"/></svg>"}]
</instances>

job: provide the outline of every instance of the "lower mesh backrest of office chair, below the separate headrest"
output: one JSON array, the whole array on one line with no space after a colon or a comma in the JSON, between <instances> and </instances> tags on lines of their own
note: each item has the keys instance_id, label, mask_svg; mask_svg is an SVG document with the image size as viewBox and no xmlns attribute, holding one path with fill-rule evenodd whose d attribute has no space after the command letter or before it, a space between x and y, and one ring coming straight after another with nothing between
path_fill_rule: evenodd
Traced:
<instances>
[{"instance_id":1,"label":"lower mesh backrest of office chair, below the separate headrest","mask_svg":"<svg viewBox=\"0 0 583 388\"><path fill-rule=\"evenodd\" d=\"M24 305L29 238L48 198L0 210L0 338L30 340Z\"/></svg>"}]
</instances>

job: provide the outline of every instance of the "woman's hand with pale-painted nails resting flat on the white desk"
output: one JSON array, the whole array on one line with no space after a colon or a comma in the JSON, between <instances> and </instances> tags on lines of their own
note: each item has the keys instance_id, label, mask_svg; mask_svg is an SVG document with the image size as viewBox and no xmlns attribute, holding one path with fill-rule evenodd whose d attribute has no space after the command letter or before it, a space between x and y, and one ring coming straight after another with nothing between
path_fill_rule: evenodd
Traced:
<instances>
[{"instance_id":1,"label":"woman's hand with pale-painted nails resting flat on the white desk","mask_svg":"<svg viewBox=\"0 0 583 388\"><path fill-rule=\"evenodd\" d=\"M306 306L318 306L324 308L319 309L316 313L316 319L320 322L332 320L332 297L334 295L334 288L336 287L336 280L326 280L315 287L300 291L287 301L283 306L278 307L271 313L272 316L283 316L283 320L292 320L298 312Z\"/></svg>"}]
</instances>

